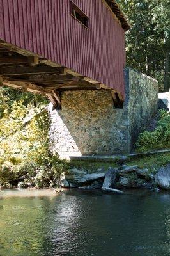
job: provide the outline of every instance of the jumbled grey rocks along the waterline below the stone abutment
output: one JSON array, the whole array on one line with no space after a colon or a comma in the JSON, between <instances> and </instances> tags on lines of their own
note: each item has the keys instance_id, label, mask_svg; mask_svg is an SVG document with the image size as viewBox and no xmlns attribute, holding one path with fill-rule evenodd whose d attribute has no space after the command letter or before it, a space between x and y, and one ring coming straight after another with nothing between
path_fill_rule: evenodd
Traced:
<instances>
[{"instance_id":1,"label":"jumbled grey rocks along the waterline below the stone abutment","mask_svg":"<svg viewBox=\"0 0 170 256\"><path fill-rule=\"evenodd\" d=\"M170 164L161 167L155 175L147 168L122 165L120 168L102 168L95 173L72 168L61 180L63 188L83 190L102 189L111 193L123 193L124 189L170 189Z\"/></svg>"}]
</instances>

